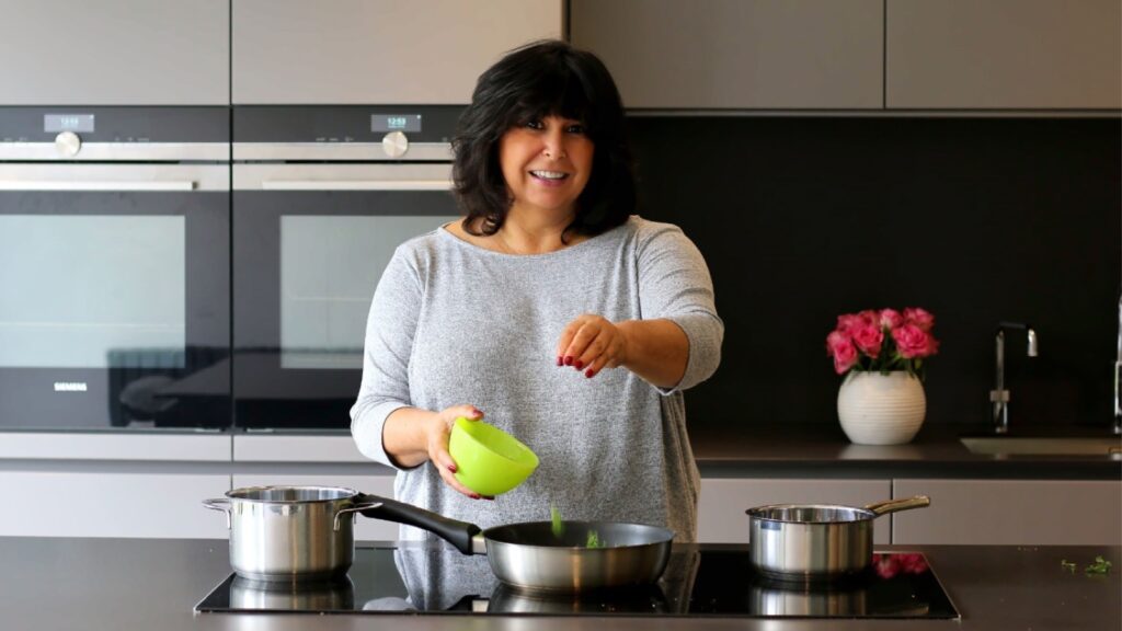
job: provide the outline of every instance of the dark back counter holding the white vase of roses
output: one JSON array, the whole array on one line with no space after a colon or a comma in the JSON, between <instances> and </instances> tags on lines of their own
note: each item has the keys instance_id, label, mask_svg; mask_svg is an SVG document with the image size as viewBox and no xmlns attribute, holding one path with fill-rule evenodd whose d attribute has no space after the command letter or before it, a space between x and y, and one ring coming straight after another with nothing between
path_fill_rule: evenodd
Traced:
<instances>
[{"instance_id":1,"label":"dark back counter holding the white vase of roses","mask_svg":"<svg viewBox=\"0 0 1122 631\"><path fill-rule=\"evenodd\" d=\"M977 428L925 424L907 445L854 445L837 423L690 428L702 477L940 477L1120 479L1122 456L973 454ZM1026 436L1110 436L1107 429L1034 429ZM1018 436L1018 435L1013 435Z\"/></svg>"}]
</instances>

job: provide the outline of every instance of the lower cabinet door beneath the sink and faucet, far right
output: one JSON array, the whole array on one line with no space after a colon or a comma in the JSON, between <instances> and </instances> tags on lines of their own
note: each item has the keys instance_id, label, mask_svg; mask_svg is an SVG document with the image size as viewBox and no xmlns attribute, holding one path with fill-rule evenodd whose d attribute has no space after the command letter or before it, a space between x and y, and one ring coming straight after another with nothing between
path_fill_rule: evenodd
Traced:
<instances>
[{"instance_id":1,"label":"lower cabinet door beneath the sink and faucet, far right","mask_svg":"<svg viewBox=\"0 0 1122 631\"><path fill-rule=\"evenodd\" d=\"M895 496L930 495L896 513L893 543L1122 545L1122 483L896 479Z\"/></svg>"}]
</instances>

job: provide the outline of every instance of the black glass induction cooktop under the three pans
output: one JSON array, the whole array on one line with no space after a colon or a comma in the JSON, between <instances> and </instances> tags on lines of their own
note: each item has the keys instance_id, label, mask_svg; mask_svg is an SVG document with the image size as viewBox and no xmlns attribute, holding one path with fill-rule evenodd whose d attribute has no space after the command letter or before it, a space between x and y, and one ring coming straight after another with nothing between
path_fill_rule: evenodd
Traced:
<instances>
[{"instance_id":1,"label":"black glass induction cooktop under the three pans","mask_svg":"<svg viewBox=\"0 0 1122 631\"><path fill-rule=\"evenodd\" d=\"M448 547L358 548L338 580L272 584L231 574L197 612L673 615L714 618L956 619L926 557L874 555L865 574L831 585L781 583L756 574L745 549L674 548L662 578L641 588L548 596L500 584L487 558Z\"/></svg>"}]
</instances>

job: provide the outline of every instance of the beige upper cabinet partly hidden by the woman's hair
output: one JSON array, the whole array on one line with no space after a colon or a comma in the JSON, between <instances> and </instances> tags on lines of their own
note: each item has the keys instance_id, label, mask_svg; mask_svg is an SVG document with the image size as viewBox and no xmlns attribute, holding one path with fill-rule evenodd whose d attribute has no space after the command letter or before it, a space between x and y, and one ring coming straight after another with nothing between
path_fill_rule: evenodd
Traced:
<instances>
[{"instance_id":1,"label":"beige upper cabinet partly hidden by the woman's hair","mask_svg":"<svg viewBox=\"0 0 1122 631\"><path fill-rule=\"evenodd\" d=\"M561 16L561 0L233 0L233 103L468 103Z\"/></svg>"}]
</instances>

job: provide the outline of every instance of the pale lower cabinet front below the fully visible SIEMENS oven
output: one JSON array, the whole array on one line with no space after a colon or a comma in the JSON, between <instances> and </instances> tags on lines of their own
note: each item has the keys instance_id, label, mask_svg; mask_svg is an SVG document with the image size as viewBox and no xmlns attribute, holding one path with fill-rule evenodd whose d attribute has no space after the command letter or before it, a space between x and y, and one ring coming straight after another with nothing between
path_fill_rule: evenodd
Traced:
<instances>
[{"instance_id":1,"label":"pale lower cabinet front below the fully visible SIEMENS oven","mask_svg":"<svg viewBox=\"0 0 1122 631\"><path fill-rule=\"evenodd\" d=\"M2 536L227 538L202 501L229 491L229 475L0 470L0 487Z\"/></svg>"}]
</instances>

